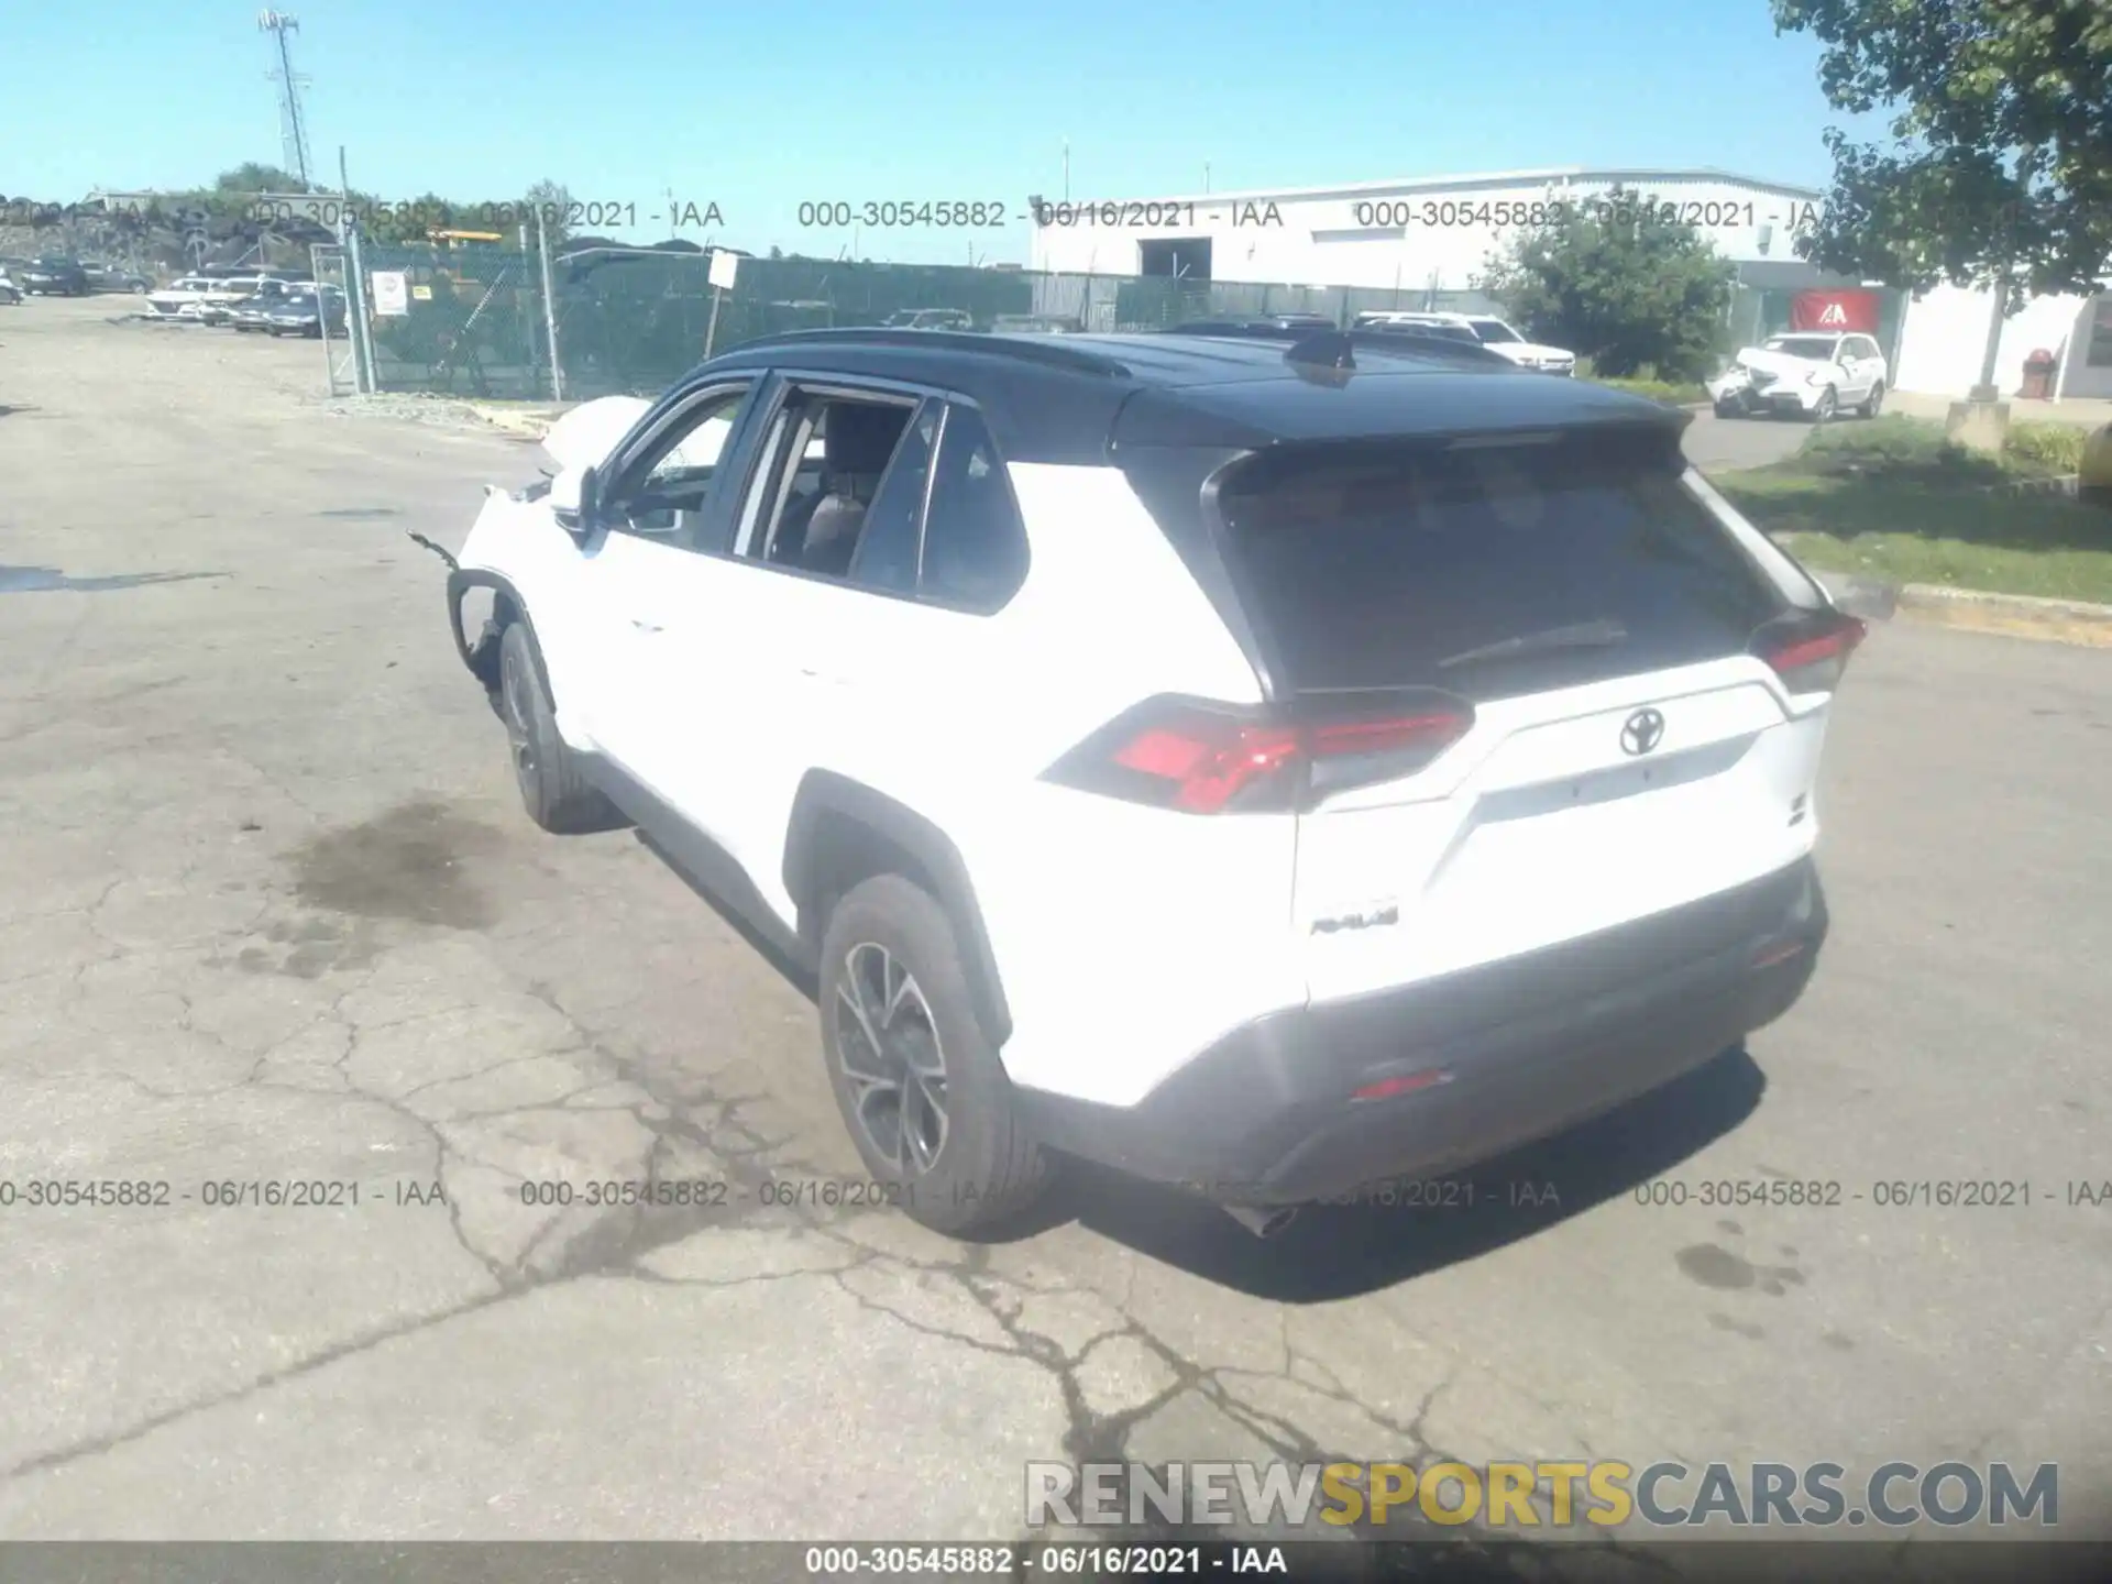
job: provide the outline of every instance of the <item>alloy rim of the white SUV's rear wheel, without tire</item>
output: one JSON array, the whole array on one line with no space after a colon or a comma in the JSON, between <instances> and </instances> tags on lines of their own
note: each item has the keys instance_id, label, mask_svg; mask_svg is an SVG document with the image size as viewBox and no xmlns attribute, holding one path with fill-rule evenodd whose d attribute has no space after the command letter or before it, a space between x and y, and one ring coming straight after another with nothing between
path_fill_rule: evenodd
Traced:
<instances>
[{"instance_id":1,"label":"alloy rim of the white SUV's rear wheel, without tire","mask_svg":"<svg viewBox=\"0 0 2112 1584\"><path fill-rule=\"evenodd\" d=\"M876 942L843 957L836 1064L866 1143L906 1176L946 1149L946 1056L917 978Z\"/></svg>"}]
</instances>

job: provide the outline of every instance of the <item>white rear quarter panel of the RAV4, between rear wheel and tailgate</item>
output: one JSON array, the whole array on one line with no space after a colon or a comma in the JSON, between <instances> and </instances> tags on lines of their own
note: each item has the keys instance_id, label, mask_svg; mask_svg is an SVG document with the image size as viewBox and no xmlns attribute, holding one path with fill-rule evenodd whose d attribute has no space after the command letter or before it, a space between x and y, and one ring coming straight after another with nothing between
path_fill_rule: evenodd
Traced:
<instances>
[{"instance_id":1,"label":"white rear quarter panel of the RAV4, between rear wheel and tailgate","mask_svg":"<svg viewBox=\"0 0 2112 1584\"><path fill-rule=\"evenodd\" d=\"M1187 815L1041 773L1157 693L1259 701L1259 680L1117 469L1012 467L1033 566L969 648L1003 743L934 815L976 883L1014 1016L1016 1083L1126 1105L1191 1052L1303 1001L1290 817ZM881 769L879 773L887 773ZM898 765L904 784L917 779Z\"/></svg>"}]
</instances>

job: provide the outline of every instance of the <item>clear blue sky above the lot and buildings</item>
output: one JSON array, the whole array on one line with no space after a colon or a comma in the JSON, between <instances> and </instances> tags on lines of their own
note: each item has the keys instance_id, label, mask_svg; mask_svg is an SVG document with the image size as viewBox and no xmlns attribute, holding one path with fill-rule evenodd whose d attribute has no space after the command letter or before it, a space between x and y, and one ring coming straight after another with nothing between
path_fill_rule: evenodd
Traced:
<instances>
[{"instance_id":1,"label":"clear blue sky above the lot and buildings","mask_svg":"<svg viewBox=\"0 0 2112 1584\"><path fill-rule=\"evenodd\" d=\"M1546 165L1713 165L1823 186L1818 49L1766 0L313 0L310 150L382 199L539 177L733 247L836 253L803 201L1162 196ZM281 163L253 4L21 4L0 36L0 194L182 188ZM684 230L693 241L708 241ZM1022 260L1026 230L980 232ZM965 262L957 232L872 258Z\"/></svg>"}]
</instances>

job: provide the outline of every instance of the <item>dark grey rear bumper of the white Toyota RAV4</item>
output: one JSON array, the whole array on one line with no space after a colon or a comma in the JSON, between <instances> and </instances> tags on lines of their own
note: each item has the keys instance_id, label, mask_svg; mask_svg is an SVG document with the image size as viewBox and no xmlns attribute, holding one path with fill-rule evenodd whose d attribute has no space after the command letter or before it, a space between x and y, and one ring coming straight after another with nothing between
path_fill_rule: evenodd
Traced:
<instances>
[{"instance_id":1,"label":"dark grey rear bumper of the white Toyota RAV4","mask_svg":"<svg viewBox=\"0 0 2112 1584\"><path fill-rule=\"evenodd\" d=\"M1227 1204L1305 1204L1563 1132L1783 1016L1827 934L1804 860L1440 980L1259 1018L1134 1107L1020 1090L1054 1149ZM1428 1088L1352 1098L1385 1079Z\"/></svg>"}]
</instances>

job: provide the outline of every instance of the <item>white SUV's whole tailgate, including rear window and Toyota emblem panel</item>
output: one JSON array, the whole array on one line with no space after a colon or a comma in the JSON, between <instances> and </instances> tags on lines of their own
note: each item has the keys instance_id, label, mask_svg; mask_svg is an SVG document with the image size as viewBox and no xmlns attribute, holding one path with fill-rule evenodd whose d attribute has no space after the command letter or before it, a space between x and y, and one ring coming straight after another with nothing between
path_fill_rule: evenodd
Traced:
<instances>
[{"instance_id":1,"label":"white SUV's whole tailgate, including rear window and Toyota emblem panel","mask_svg":"<svg viewBox=\"0 0 2112 1584\"><path fill-rule=\"evenodd\" d=\"M1810 847L1825 712L1755 634L1780 579L1666 446L1284 448L1219 490L1227 564L1301 710L1419 689L1466 735L1299 815L1316 999L1647 917Z\"/></svg>"}]
</instances>

